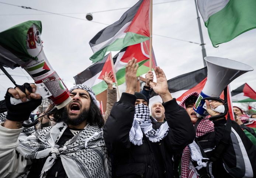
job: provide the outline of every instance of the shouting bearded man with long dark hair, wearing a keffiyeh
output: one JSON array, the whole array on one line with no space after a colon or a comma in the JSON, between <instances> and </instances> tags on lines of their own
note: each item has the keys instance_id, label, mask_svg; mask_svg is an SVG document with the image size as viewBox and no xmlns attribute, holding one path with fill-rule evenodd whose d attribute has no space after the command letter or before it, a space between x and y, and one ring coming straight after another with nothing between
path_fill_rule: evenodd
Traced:
<instances>
[{"instance_id":1,"label":"shouting bearded man with long dark hair, wearing a keffiyeh","mask_svg":"<svg viewBox=\"0 0 256 178\"><path fill-rule=\"evenodd\" d=\"M46 127L18 142L23 121L41 104L34 84L9 88L7 119L0 125L0 177L110 177L110 159L101 127L103 117L93 90L85 85L70 89L72 102L56 111L55 126ZM29 87L28 87L29 86ZM10 97L23 103L10 104ZM31 101L24 102L27 98Z\"/></svg>"}]
</instances>

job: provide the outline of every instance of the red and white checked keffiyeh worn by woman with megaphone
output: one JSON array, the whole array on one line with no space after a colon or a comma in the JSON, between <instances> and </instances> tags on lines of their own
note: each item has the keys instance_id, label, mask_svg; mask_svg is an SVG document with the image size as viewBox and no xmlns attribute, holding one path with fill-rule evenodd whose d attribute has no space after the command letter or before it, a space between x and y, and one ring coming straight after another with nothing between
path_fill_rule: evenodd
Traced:
<instances>
[{"instance_id":1,"label":"red and white checked keffiyeh worn by woman with megaphone","mask_svg":"<svg viewBox=\"0 0 256 178\"><path fill-rule=\"evenodd\" d=\"M197 92L193 92L187 95L186 97L184 97L180 102L180 106L182 106L184 109L186 109L185 101L191 95L195 95L196 97L199 96ZM201 137L209 132L214 132L214 124L212 123L212 121L209 121L206 117L205 119L202 119L199 122L196 130L196 137ZM193 170L192 171L189 170L190 160L191 160L190 150L189 150L189 147L186 146L185 149L183 150L183 154L181 157L181 178L188 178L188 172L189 172L189 177L191 178L198 177L196 175L196 172L194 172Z\"/></svg>"}]
</instances>

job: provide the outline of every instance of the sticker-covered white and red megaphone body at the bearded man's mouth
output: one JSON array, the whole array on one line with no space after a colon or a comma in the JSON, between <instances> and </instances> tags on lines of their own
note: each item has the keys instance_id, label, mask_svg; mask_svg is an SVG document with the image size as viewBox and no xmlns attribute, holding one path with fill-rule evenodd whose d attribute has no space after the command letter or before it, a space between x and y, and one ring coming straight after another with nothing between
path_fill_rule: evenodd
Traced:
<instances>
[{"instance_id":1,"label":"sticker-covered white and red megaphone body at the bearded man's mouth","mask_svg":"<svg viewBox=\"0 0 256 178\"><path fill-rule=\"evenodd\" d=\"M67 100L70 93L48 62L43 50L40 31L35 24L31 25L27 32L26 46L33 60L22 67L30 74L36 84L44 83L52 95L50 98L54 104L60 104Z\"/></svg>"}]
</instances>

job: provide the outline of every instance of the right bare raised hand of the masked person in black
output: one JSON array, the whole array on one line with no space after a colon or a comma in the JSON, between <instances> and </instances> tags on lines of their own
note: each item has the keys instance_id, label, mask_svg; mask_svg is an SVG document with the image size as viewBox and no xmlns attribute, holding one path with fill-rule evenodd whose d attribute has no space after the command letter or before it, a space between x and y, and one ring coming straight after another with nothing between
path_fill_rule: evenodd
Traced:
<instances>
[{"instance_id":1,"label":"right bare raised hand of the masked person in black","mask_svg":"<svg viewBox=\"0 0 256 178\"><path fill-rule=\"evenodd\" d=\"M163 102L172 100L173 98L168 90L168 84L167 84L165 73L160 67L156 67L155 73L156 73L156 85L153 82L150 82L149 84L151 85L151 88L153 88L156 94L159 94Z\"/></svg>"}]
</instances>

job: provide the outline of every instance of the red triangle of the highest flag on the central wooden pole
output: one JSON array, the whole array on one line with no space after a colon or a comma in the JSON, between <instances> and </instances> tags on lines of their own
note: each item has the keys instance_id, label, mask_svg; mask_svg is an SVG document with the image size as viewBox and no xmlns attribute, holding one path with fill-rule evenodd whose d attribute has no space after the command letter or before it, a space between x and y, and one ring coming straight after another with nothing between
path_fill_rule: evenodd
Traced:
<instances>
[{"instance_id":1,"label":"red triangle of the highest flag on the central wooden pole","mask_svg":"<svg viewBox=\"0 0 256 178\"><path fill-rule=\"evenodd\" d=\"M135 14L131 24L124 32L150 36L149 34L149 4L150 0L144 0Z\"/></svg>"}]
</instances>

